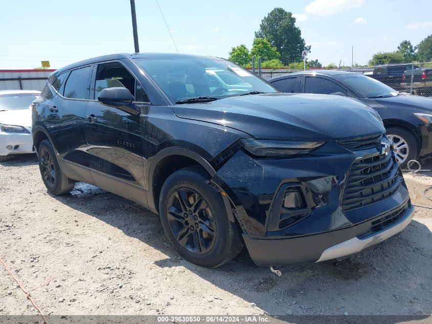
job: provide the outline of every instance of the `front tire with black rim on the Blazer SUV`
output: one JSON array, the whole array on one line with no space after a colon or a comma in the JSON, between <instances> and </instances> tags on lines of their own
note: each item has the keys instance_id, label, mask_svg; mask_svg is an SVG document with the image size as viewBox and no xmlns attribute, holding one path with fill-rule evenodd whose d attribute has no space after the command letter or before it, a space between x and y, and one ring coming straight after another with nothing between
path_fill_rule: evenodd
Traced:
<instances>
[{"instance_id":1,"label":"front tire with black rim on the Blazer SUV","mask_svg":"<svg viewBox=\"0 0 432 324\"><path fill-rule=\"evenodd\" d=\"M194 166L174 172L162 186L159 210L165 234L178 253L198 266L216 268L235 257L243 245L236 223L228 219L222 197L208 178Z\"/></svg>"}]
</instances>

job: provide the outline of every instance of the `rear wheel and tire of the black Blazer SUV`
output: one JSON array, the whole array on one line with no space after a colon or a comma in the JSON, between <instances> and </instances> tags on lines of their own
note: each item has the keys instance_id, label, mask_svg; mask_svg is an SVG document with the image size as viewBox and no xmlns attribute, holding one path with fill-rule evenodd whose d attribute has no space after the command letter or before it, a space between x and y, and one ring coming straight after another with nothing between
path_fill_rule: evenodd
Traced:
<instances>
[{"instance_id":1,"label":"rear wheel and tire of the black Blazer SUV","mask_svg":"<svg viewBox=\"0 0 432 324\"><path fill-rule=\"evenodd\" d=\"M49 140L43 140L38 148L38 162L43 184L54 196L71 192L75 183L60 169L54 148Z\"/></svg>"}]
</instances>

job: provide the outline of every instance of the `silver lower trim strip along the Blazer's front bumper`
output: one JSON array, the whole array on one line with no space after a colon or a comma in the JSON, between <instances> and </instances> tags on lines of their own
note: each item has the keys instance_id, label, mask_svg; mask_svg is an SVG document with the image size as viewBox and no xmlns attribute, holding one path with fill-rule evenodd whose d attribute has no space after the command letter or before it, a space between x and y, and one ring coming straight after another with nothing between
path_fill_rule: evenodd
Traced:
<instances>
[{"instance_id":1,"label":"silver lower trim strip along the Blazer's front bumper","mask_svg":"<svg viewBox=\"0 0 432 324\"><path fill-rule=\"evenodd\" d=\"M350 240L333 245L325 249L321 254L321 257L316 262L332 260L335 258L355 254L360 252L363 249L378 244L388 239L389 237L399 233L401 230L403 230L408 224L410 224L411 220L413 219L413 216L414 216L414 207L411 207L411 209L407 212L405 217L401 219L398 223L394 224L393 226L385 228L369 236L363 237L362 239L353 237Z\"/></svg>"}]
</instances>

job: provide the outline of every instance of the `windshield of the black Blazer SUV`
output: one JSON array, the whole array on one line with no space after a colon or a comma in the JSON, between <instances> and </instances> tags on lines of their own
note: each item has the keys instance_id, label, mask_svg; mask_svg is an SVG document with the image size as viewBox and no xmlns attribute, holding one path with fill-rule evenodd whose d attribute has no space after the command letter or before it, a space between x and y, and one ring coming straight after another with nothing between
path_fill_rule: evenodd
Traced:
<instances>
[{"instance_id":1,"label":"windshield of the black Blazer SUV","mask_svg":"<svg viewBox=\"0 0 432 324\"><path fill-rule=\"evenodd\" d=\"M138 58L139 66L174 102L278 92L251 72L218 58Z\"/></svg>"}]
</instances>

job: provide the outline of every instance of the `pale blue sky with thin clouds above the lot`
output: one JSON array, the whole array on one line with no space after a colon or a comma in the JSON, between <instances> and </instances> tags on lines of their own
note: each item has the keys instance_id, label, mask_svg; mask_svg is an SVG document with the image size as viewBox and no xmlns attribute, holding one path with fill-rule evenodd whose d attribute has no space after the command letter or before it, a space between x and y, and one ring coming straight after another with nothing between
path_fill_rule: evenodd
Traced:
<instances>
[{"instance_id":1,"label":"pale blue sky with thin clouds above the lot","mask_svg":"<svg viewBox=\"0 0 432 324\"><path fill-rule=\"evenodd\" d=\"M135 0L141 52L175 52L155 0ZM159 0L180 53L228 58L251 47L261 19L275 7L298 17L310 59L367 63L378 51L413 45L432 33L432 1L399 0L196 1ZM53 68L98 55L133 52L129 0L10 1L2 4L0 69Z\"/></svg>"}]
</instances>

